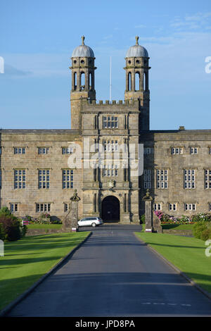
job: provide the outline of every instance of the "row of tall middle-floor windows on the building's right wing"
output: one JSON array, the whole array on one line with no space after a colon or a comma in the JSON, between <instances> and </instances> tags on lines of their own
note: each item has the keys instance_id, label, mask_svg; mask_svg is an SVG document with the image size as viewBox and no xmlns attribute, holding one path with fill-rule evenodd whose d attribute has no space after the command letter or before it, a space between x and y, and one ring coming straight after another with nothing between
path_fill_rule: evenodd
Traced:
<instances>
[{"instance_id":1,"label":"row of tall middle-floor windows on the building's right wing","mask_svg":"<svg viewBox=\"0 0 211 331\"><path fill-rule=\"evenodd\" d=\"M196 189L196 170L184 169L184 189ZM168 173L167 169L156 170L156 188L168 188ZM205 189L211 189L211 170L204 170L204 185ZM143 170L143 187L144 189L151 189L152 187L152 170Z\"/></svg>"}]
</instances>

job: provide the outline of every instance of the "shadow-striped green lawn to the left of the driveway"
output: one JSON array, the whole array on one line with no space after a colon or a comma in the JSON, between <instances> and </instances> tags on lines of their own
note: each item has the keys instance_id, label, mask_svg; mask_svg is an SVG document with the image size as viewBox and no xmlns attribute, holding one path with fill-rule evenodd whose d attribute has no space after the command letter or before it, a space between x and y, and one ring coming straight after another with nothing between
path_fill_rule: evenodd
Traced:
<instances>
[{"instance_id":1,"label":"shadow-striped green lawn to the left of the driveway","mask_svg":"<svg viewBox=\"0 0 211 331\"><path fill-rule=\"evenodd\" d=\"M0 256L0 310L55 266L89 232L25 237L4 246Z\"/></svg>"}]
</instances>

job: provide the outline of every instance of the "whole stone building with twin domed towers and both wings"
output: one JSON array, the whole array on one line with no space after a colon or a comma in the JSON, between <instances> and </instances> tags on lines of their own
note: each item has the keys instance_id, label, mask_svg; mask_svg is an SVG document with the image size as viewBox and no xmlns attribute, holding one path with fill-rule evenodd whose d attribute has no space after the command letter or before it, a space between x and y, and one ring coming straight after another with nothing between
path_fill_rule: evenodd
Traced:
<instances>
[{"instance_id":1,"label":"whole stone building with twin domed towers and both wings","mask_svg":"<svg viewBox=\"0 0 211 331\"><path fill-rule=\"evenodd\" d=\"M139 223L150 189L157 210L211 211L211 130L150 130L149 57L138 40L125 57L124 101L96 103L94 51L82 37L71 57L71 130L0 131L1 206L62 219L77 189L79 218Z\"/></svg>"}]
</instances>

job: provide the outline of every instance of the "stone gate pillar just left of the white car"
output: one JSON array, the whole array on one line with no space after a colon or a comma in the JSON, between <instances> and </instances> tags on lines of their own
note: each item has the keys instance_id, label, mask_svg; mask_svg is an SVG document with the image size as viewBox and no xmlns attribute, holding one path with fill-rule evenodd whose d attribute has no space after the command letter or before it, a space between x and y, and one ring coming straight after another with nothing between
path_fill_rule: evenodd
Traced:
<instances>
[{"instance_id":1,"label":"stone gate pillar just left of the white car","mask_svg":"<svg viewBox=\"0 0 211 331\"><path fill-rule=\"evenodd\" d=\"M70 211L63 219L63 226L62 226L63 232L77 231L79 200L80 200L80 198L79 198L79 196L77 196L77 189L75 189L73 196L70 198Z\"/></svg>"}]
</instances>

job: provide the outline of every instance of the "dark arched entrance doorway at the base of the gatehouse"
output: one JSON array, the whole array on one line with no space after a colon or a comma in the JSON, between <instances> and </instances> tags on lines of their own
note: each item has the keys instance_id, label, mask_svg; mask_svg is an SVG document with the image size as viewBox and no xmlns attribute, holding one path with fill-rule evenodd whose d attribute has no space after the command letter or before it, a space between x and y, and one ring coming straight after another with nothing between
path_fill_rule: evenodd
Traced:
<instances>
[{"instance_id":1,"label":"dark arched entrance doorway at the base of the gatehouse","mask_svg":"<svg viewBox=\"0 0 211 331\"><path fill-rule=\"evenodd\" d=\"M104 222L118 222L120 220L120 201L109 195L102 201L102 218Z\"/></svg>"}]
</instances>

